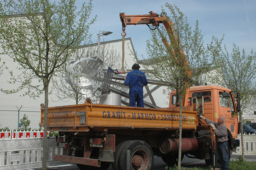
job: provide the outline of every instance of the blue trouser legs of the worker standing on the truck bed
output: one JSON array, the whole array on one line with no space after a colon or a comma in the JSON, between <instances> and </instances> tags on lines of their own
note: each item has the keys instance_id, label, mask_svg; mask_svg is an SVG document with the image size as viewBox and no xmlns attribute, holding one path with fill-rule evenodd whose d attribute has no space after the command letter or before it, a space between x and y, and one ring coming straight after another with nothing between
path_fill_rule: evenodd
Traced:
<instances>
[{"instance_id":1,"label":"blue trouser legs of the worker standing on the truck bed","mask_svg":"<svg viewBox=\"0 0 256 170\"><path fill-rule=\"evenodd\" d=\"M143 101L143 88L141 87L132 87L129 90L129 104L132 107L144 107Z\"/></svg>"}]
</instances>

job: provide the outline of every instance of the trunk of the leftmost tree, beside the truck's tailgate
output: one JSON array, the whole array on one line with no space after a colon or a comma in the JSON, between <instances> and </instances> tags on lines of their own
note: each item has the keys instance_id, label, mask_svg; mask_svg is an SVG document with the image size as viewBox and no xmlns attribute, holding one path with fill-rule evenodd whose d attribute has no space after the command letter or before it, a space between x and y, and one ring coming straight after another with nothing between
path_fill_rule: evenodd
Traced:
<instances>
[{"instance_id":1,"label":"trunk of the leftmost tree, beside the truck's tailgate","mask_svg":"<svg viewBox=\"0 0 256 170\"><path fill-rule=\"evenodd\" d=\"M47 81L44 90L44 139L43 139L43 170L47 169L47 124L48 124L48 91L49 91L49 81Z\"/></svg>"}]
</instances>

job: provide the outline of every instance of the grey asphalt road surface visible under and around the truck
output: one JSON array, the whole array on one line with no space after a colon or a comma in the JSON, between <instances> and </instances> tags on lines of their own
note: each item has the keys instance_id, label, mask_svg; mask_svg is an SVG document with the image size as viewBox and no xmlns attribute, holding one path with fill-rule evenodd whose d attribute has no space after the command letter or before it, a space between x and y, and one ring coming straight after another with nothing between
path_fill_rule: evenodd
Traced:
<instances>
[{"instance_id":1,"label":"grey asphalt road surface visible under and around the truck","mask_svg":"<svg viewBox=\"0 0 256 170\"><path fill-rule=\"evenodd\" d=\"M236 160L239 155L231 155L230 160ZM256 162L256 157L255 155L245 155L245 159L249 162L255 161ZM194 158L188 158L187 156L184 156L181 165L186 168L193 168L193 167L206 167L205 160L200 160L200 159L194 159ZM154 157L154 167L153 170L165 170L165 167L167 166L166 163L163 162L161 157ZM58 167L59 170L80 170L76 164L68 164L68 165L62 165L62 166L51 166L53 167ZM112 166L107 170L112 170Z\"/></svg>"}]
</instances>

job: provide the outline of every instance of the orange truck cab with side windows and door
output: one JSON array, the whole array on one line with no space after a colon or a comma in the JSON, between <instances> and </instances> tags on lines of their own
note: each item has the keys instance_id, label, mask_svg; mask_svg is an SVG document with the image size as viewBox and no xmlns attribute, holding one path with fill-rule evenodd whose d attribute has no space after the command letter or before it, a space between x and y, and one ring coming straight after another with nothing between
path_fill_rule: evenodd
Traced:
<instances>
[{"instance_id":1,"label":"orange truck cab with side windows and door","mask_svg":"<svg viewBox=\"0 0 256 170\"><path fill-rule=\"evenodd\" d=\"M176 99L176 91L171 91L169 100L170 108L176 107ZM238 115L236 112L239 111L240 101L236 102L235 96L230 89L219 86L190 87L188 105L194 106L197 113L212 121L217 121L217 118L223 115L226 118L224 123L229 131L230 149L240 145L239 140L235 139L239 133ZM199 119L199 126L208 125L205 120Z\"/></svg>"}]
</instances>

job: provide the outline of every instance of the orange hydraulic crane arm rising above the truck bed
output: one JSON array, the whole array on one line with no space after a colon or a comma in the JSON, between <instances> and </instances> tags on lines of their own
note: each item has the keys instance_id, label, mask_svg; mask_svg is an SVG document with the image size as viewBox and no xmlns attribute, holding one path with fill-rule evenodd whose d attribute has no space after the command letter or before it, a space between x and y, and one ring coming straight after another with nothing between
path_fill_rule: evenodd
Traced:
<instances>
[{"instance_id":1,"label":"orange hydraulic crane arm rising above the truck bed","mask_svg":"<svg viewBox=\"0 0 256 170\"><path fill-rule=\"evenodd\" d=\"M172 25L173 22L170 21L165 15L158 15L157 13L154 13L153 11L150 11L148 15L125 15L124 13L120 13L120 19L122 22L122 29L123 31L125 30L127 25L139 25L139 24L146 24L149 26L149 24L152 24L152 26L156 27L156 29L158 30L158 32L160 33L161 37L162 37L162 41L166 46L169 46L168 41L166 40L166 38L162 35L162 33L160 32L160 30L158 29L158 26L160 23L162 23L167 32L171 33L172 35L174 35L173 29L172 29ZM169 38L171 39L171 35L169 35ZM174 44L176 43L176 44ZM174 41L172 42L172 44L175 46L178 45L178 41ZM173 53L173 56L175 56L175 54L178 52L176 49L174 49L174 52L171 51ZM184 56L184 64L187 65L187 67L189 66L187 59L185 58L185 54L184 51L180 51L180 53ZM178 59L176 58L177 62ZM191 76L191 70L188 69L188 76ZM186 90L187 94L185 94L184 98L183 98L183 106L188 106L188 96L189 96L189 88Z\"/></svg>"}]
</instances>

